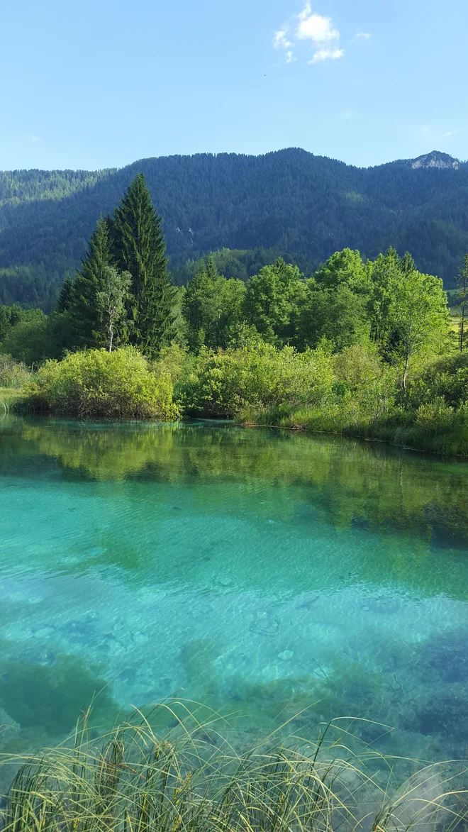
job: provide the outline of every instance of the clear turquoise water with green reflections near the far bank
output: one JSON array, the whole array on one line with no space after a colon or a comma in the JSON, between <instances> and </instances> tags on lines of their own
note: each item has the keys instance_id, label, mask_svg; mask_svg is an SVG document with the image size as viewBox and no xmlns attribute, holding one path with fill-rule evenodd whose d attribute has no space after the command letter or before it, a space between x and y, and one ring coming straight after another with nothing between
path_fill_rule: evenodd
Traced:
<instances>
[{"instance_id":1,"label":"clear turquoise water with green reflections near the far bank","mask_svg":"<svg viewBox=\"0 0 468 832\"><path fill-rule=\"evenodd\" d=\"M468 466L229 424L0 423L0 709L15 743L179 692L466 755ZM2 711L0 711L1 715Z\"/></svg>"}]
</instances>

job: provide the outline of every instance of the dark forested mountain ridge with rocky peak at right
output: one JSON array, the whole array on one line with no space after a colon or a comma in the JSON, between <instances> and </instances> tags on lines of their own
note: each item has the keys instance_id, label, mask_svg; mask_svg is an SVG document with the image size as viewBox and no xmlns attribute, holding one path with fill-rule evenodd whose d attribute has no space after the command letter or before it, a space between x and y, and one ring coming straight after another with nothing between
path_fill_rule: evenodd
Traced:
<instances>
[{"instance_id":1,"label":"dark forested mountain ridge with rocky peak at right","mask_svg":"<svg viewBox=\"0 0 468 832\"><path fill-rule=\"evenodd\" d=\"M368 257L395 245L450 287L468 251L468 163L439 151L370 168L289 148L0 172L0 302L50 309L98 216L138 171L164 217L176 271L222 247L281 252L310 273L347 245Z\"/></svg>"}]
</instances>

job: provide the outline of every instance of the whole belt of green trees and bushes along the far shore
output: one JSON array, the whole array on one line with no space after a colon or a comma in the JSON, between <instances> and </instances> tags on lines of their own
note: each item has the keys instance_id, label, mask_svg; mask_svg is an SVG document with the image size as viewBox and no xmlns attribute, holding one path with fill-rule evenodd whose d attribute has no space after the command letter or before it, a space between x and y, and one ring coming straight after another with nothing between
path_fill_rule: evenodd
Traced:
<instances>
[{"instance_id":1,"label":"whole belt of green trees and bushes along the far shore","mask_svg":"<svg viewBox=\"0 0 468 832\"><path fill-rule=\"evenodd\" d=\"M247 281L217 262L173 284L138 174L52 314L0 306L0 406L228 417L468 455L468 255L456 320L442 281L394 249L337 251L311 278L280 257Z\"/></svg>"}]
</instances>

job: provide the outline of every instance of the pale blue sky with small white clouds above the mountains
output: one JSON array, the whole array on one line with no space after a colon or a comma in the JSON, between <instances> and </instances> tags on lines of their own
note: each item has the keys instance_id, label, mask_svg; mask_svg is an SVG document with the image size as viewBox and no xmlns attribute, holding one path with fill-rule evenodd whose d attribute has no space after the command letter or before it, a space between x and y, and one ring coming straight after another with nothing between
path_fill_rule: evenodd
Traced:
<instances>
[{"instance_id":1,"label":"pale blue sky with small white clouds above the mountains","mask_svg":"<svg viewBox=\"0 0 468 832\"><path fill-rule=\"evenodd\" d=\"M0 170L468 157L467 0L2 0Z\"/></svg>"}]
</instances>

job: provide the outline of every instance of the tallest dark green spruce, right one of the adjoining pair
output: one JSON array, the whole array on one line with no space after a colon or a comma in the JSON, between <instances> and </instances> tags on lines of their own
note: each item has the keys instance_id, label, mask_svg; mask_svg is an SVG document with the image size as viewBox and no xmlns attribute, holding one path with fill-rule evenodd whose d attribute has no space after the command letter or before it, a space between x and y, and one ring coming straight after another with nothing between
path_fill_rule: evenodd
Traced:
<instances>
[{"instance_id":1,"label":"tallest dark green spruce, right one of the adjoining pair","mask_svg":"<svg viewBox=\"0 0 468 832\"><path fill-rule=\"evenodd\" d=\"M135 176L111 225L117 266L131 274L131 340L150 356L175 337L177 290L168 271L161 218L142 173Z\"/></svg>"}]
</instances>

